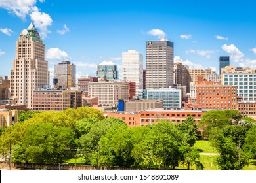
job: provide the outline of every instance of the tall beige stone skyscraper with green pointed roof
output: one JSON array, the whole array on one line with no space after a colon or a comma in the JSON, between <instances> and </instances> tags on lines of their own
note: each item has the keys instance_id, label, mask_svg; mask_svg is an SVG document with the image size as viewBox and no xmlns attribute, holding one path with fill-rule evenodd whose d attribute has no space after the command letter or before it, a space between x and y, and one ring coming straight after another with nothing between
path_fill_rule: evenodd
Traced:
<instances>
[{"instance_id":1,"label":"tall beige stone skyscraper with green pointed roof","mask_svg":"<svg viewBox=\"0 0 256 183\"><path fill-rule=\"evenodd\" d=\"M18 105L32 108L32 91L49 85L48 61L45 44L31 22L16 42L16 58L11 70L11 97Z\"/></svg>"}]
</instances>

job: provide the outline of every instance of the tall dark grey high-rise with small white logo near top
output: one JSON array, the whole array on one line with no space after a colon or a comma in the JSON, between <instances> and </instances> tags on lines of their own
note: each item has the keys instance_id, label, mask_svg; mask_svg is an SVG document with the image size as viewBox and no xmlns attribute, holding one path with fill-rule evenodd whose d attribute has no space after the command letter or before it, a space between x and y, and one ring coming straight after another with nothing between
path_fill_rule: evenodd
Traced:
<instances>
[{"instance_id":1,"label":"tall dark grey high-rise with small white logo near top","mask_svg":"<svg viewBox=\"0 0 256 183\"><path fill-rule=\"evenodd\" d=\"M173 42L165 38L146 41L146 88L168 88L173 84Z\"/></svg>"}]
</instances>

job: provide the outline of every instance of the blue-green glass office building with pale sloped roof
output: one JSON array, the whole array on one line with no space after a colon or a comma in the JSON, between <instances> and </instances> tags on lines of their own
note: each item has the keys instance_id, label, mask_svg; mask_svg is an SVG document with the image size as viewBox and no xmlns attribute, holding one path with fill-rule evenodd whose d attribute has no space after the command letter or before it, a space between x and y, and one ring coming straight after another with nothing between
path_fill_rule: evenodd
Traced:
<instances>
[{"instance_id":1,"label":"blue-green glass office building with pale sloped roof","mask_svg":"<svg viewBox=\"0 0 256 183\"><path fill-rule=\"evenodd\" d=\"M106 80L118 79L117 65L111 60L102 61L97 67L97 77L105 76Z\"/></svg>"}]
</instances>

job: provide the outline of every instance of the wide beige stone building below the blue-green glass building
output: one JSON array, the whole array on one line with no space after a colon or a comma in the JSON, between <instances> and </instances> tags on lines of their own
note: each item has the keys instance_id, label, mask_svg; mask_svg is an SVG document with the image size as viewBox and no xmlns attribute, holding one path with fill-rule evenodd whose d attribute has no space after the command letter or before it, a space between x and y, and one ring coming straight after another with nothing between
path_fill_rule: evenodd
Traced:
<instances>
[{"instance_id":1,"label":"wide beige stone building below the blue-green glass building","mask_svg":"<svg viewBox=\"0 0 256 183\"><path fill-rule=\"evenodd\" d=\"M98 97L99 107L117 107L119 99L129 99L129 84L99 80L98 82L89 82L88 92L89 97Z\"/></svg>"}]
</instances>

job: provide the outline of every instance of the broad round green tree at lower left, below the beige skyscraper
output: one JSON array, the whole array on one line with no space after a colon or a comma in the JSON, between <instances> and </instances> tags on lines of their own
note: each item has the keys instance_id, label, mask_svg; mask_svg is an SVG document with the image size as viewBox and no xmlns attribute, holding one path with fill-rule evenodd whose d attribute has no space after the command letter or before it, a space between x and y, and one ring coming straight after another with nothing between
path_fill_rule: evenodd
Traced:
<instances>
[{"instance_id":1,"label":"broad round green tree at lower left, below the beige skyscraper","mask_svg":"<svg viewBox=\"0 0 256 183\"><path fill-rule=\"evenodd\" d=\"M75 135L68 127L38 123L28 128L14 148L14 161L63 163L74 155Z\"/></svg>"}]
</instances>

